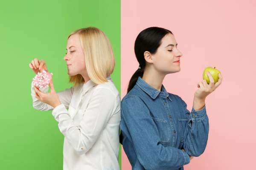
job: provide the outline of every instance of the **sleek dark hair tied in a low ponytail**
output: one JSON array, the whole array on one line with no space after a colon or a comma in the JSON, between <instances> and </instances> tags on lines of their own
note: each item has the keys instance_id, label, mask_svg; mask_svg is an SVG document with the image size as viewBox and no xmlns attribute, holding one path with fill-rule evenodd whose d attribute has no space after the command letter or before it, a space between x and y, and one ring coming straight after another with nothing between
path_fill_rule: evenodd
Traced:
<instances>
[{"instance_id":1,"label":"sleek dark hair tied in a low ponytail","mask_svg":"<svg viewBox=\"0 0 256 170\"><path fill-rule=\"evenodd\" d=\"M149 27L141 31L137 36L134 44L134 51L140 66L130 79L127 93L134 87L137 79L143 76L146 65L144 52L149 51L151 54L155 54L157 48L161 45L162 38L166 34L172 34L172 32L165 28Z\"/></svg>"}]
</instances>

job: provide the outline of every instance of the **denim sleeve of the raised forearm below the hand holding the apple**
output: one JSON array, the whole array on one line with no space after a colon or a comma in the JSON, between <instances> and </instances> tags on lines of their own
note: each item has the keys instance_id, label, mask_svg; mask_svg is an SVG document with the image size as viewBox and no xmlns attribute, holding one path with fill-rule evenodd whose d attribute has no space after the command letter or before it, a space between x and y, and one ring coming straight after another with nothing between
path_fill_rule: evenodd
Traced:
<instances>
[{"instance_id":1,"label":"denim sleeve of the raised forearm below the hand holding the apple","mask_svg":"<svg viewBox=\"0 0 256 170\"><path fill-rule=\"evenodd\" d=\"M206 113L206 105L199 111L195 111L192 108L190 113L186 108L186 102L183 99L181 99L181 102L184 106L185 115L188 118L183 148L189 156L200 156L204 153L209 134L209 119Z\"/></svg>"}]
</instances>

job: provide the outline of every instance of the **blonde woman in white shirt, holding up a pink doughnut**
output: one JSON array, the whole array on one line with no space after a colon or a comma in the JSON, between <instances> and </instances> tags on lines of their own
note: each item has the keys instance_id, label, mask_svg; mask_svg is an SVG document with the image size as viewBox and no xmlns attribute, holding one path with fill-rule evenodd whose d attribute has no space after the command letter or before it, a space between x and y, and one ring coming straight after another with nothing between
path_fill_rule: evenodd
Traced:
<instances>
[{"instance_id":1,"label":"blonde woman in white shirt, holding up a pink doughnut","mask_svg":"<svg viewBox=\"0 0 256 170\"><path fill-rule=\"evenodd\" d=\"M111 44L98 28L81 28L67 38L71 88L55 92L31 86L33 107L52 110L64 135L64 170L119 170L120 96L110 77L115 60ZM47 71L44 60L29 67Z\"/></svg>"}]
</instances>

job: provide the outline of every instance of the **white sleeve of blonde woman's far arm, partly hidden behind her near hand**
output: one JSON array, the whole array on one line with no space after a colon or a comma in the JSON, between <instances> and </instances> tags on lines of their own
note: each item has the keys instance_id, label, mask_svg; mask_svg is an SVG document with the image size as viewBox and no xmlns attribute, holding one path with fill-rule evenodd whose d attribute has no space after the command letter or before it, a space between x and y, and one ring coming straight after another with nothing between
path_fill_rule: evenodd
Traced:
<instances>
[{"instance_id":1,"label":"white sleeve of blonde woman's far arm, partly hidden behind her near hand","mask_svg":"<svg viewBox=\"0 0 256 170\"><path fill-rule=\"evenodd\" d=\"M47 88L40 88L40 91L44 93L48 93L48 87ZM57 92L60 102L68 109L68 106L71 102L72 94L74 91L74 87L66 88L64 91ZM33 101L33 108L39 110L39 111L49 111L53 110L53 107L51 105L48 105L47 103L41 102L35 97L35 88L33 85L33 82L31 83L31 96Z\"/></svg>"}]
</instances>

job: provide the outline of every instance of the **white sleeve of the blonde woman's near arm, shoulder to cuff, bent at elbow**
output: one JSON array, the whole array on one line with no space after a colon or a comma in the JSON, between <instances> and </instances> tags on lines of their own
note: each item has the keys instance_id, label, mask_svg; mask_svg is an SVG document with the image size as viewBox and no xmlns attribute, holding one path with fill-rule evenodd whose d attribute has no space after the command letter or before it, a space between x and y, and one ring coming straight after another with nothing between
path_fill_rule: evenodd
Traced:
<instances>
[{"instance_id":1,"label":"white sleeve of the blonde woman's near arm, shoulder to cuff, bent at elbow","mask_svg":"<svg viewBox=\"0 0 256 170\"><path fill-rule=\"evenodd\" d=\"M95 89L79 125L74 124L62 104L53 109L52 115L58 121L59 130L73 149L83 154L90 150L113 113L116 113L117 99L118 96L107 88Z\"/></svg>"}]
</instances>

